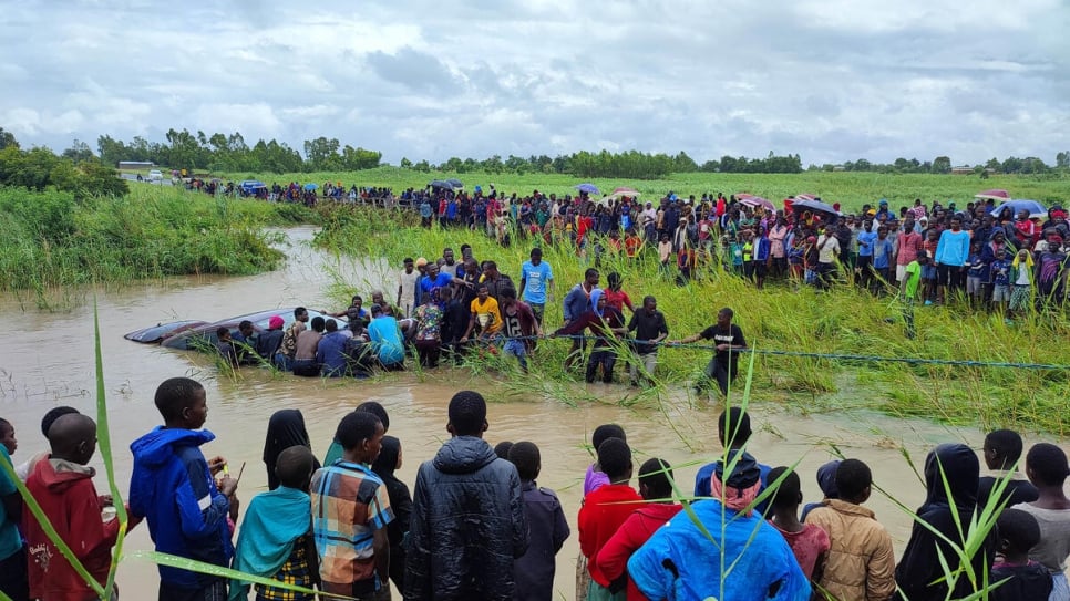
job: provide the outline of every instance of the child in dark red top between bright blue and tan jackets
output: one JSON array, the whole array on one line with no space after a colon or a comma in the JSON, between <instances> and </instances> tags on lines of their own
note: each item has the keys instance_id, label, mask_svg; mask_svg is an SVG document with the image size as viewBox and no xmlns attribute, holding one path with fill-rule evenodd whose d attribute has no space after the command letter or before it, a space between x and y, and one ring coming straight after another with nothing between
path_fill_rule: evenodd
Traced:
<instances>
[{"instance_id":1,"label":"child in dark red top between bright blue and tan jackets","mask_svg":"<svg viewBox=\"0 0 1070 601\"><path fill-rule=\"evenodd\" d=\"M786 467L774 467L769 473L769 480L780 480L780 486L769 502L772 512L769 522L788 541L806 578L821 580L830 549L829 535L820 526L799 521L799 504L802 502L799 474L788 472Z\"/></svg>"}]
</instances>

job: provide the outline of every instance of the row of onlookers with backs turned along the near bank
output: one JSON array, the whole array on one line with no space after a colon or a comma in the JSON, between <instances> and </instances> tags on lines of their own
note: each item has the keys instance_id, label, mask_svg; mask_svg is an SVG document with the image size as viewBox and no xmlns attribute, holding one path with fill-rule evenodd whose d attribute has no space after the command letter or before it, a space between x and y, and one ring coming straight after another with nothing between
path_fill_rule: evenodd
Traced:
<instances>
[{"instance_id":1,"label":"row of onlookers with backs turned along the near bank","mask_svg":"<svg viewBox=\"0 0 1070 601\"><path fill-rule=\"evenodd\" d=\"M636 470L624 428L597 427L595 462L583 476L573 521L557 495L536 484L536 443L492 447L484 439L490 417L476 392L450 401L451 438L421 464L412 488L395 474L402 444L389 435L380 403L366 402L340 419L322 463L300 411L276 412L263 455L269 490L254 496L244 514L240 474L200 450L215 438L203 429L202 384L166 380L155 405L162 425L131 444L127 528L145 521L160 552L271 582L162 564L164 601L247 599L250 589L258 600L311 601L318 590L379 601L391 598L391 582L412 601L548 601L559 597L555 556L574 530L577 600L935 601L980 598L985 589L996 601L1070 599L1067 455L1052 444L1033 445L1023 478L1017 472L1023 445L1012 431L985 437L989 474L964 444L940 444L928 454L927 497L896 560L892 538L866 507L877 486L870 466L855 458L821 466L823 498L801 508L801 475L751 454L750 416L739 407L718 417L724 452L698 469L687 498L668 462L652 457ZM124 532L114 500L97 494L88 467L96 424L56 407L41 432L49 450L16 467L14 426L0 419L7 468L0 469L0 592L14 601L97 599L23 507L9 476L25 483L103 586Z\"/></svg>"}]
</instances>

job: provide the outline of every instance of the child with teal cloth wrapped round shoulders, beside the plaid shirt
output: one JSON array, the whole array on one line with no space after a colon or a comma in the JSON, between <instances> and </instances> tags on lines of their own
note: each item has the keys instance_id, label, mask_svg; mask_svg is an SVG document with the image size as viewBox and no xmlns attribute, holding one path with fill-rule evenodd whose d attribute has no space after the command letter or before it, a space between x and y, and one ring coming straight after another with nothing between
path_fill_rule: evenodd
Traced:
<instances>
[{"instance_id":1,"label":"child with teal cloth wrapped round shoulders, beside the plaid shirt","mask_svg":"<svg viewBox=\"0 0 1070 601\"><path fill-rule=\"evenodd\" d=\"M279 485L261 493L245 511L234 550L234 569L311 589L319 582L311 537L309 481L317 462L312 449L295 445L282 450L275 466ZM257 599L312 601L315 595L256 586ZM230 601L245 600L249 583L230 584Z\"/></svg>"}]
</instances>

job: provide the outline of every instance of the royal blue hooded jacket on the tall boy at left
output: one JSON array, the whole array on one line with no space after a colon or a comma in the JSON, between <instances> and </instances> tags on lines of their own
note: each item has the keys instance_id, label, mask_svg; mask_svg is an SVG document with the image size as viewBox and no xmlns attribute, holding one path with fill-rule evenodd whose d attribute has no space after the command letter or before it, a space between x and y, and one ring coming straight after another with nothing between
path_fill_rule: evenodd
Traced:
<instances>
[{"instance_id":1,"label":"royal blue hooded jacket on the tall boy at left","mask_svg":"<svg viewBox=\"0 0 1070 601\"><path fill-rule=\"evenodd\" d=\"M227 567L234 556L227 525L230 504L216 489L199 448L213 439L206 429L156 426L134 441L130 510L148 521L156 551ZM160 580L174 588L199 589L219 578L160 566Z\"/></svg>"}]
</instances>

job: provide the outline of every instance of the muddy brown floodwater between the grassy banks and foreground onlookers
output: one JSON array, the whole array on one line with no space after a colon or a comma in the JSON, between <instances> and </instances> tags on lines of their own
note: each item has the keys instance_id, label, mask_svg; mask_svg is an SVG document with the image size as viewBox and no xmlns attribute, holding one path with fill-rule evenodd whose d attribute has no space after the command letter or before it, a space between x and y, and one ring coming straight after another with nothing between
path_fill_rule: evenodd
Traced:
<instances>
[{"instance_id":1,"label":"muddy brown floodwater between the grassy banks and foreground onlookers","mask_svg":"<svg viewBox=\"0 0 1070 601\"><path fill-rule=\"evenodd\" d=\"M226 457L232 474L245 464L239 487L243 499L266 490L267 477L260 456L267 421L275 411L301 410L313 450L322 457L338 421L361 402L379 400L390 413L390 434L402 441L404 465L399 475L412 486L419 464L431 458L449 436L445 424L450 397L459 390L471 388L492 402L486 433L491 444L532 441L542 450L538 485L557 491L573 528L558 555L555 581L559 595L572 599L578 553L576 515L584 470L591 460L584 445L597 425L613 422L626 428L637 469L651 456L680 466L676 477L687 493L699 466L720 453L717 442L720 407L692 406L682 391L665 398L660 407L627 408L615 404L628 394L627 387L593 384L587 390L603 402L570 407L538 397L504 398L494 377L470 377L462 371L442 369L423 375L389 374L372 381L321 381L288 375L272 377L266 371L246 367L237 379L228 379L217 374L203 356L122 338L127 331L177 319L213 321L296 304L328 308L328 287L336 278L362 291L370 291L388 279L393 281L385 276L383 265L340 260L312 250L308 243L313 234L311 228L292 228L286 232L290 239L286 249L290 259L276 272L241 278L178 278L99 292L109 419L116 447L116 478L124 491L132 468L128 445L160 423L152 398L156 385L167 377L187 375L204 383L209 406L206 427L217 436L204 452L208 456ZM72 405L95 415L92 297L63 313L25 310L14 296L0 297L0 319L12 329L0 348L0 416L17 428L20 446L14 460L21 463L31 454L47 449L40 434L40 418L49 408ZM755 434L750 450L759 460L773 466L798 460L806 501L820 498L814 474L831 458L829 443L834 443L847 456L865 460L873 468L876 484L913 508L923 500L924 490L901 448L909 452L914 463L920 466L925 453L938 442L965 442L978 449L982 442L982 433L978 431L897 421L873 413L803 415L775 404L754 405L751 413ZM102 468L99 455L93 465ZM102 493L106 489L102 474L96 478L96 486ZM909 537L909 516L876 491L867 505L891 531L896 553L902 553ZM144 526L127 538L127 550L151 548ZM119 582L124 597L148 598L155 591L155 567L126 561L120 568Z\"/></svg>"}]
</instances>

